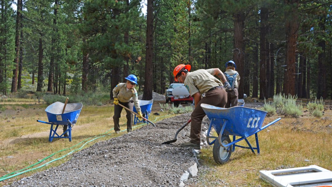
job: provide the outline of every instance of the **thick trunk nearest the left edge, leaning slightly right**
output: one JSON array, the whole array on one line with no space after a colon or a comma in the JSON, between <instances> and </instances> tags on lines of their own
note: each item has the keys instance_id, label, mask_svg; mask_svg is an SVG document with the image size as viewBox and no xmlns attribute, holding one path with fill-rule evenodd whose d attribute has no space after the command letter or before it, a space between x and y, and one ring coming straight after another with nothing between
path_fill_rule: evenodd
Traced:
<instances>
[{"instance_id":1,"label":"thick trunk nearest the left edge, leaning slightly right","mask_svg":"<svg viewBox=\"0 0 332 187\"><path fill-rule=\"evenodd\" d=\"M20 27L21 27L21 7L22 0L17 0L17 13L16 13L16 34L15 34L15 59L14 69L12 78L12 89L11 92L17 92L17 74L19 69L19 58L20 58Z\"/></svg>"}]
</instances>

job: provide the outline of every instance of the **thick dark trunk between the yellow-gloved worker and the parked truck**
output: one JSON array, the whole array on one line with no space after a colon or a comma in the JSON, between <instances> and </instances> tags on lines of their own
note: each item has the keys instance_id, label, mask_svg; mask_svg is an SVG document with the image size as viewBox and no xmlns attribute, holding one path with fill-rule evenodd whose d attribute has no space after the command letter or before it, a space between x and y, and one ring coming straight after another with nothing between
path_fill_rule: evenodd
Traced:
<instances>
[{"instance_id":1,"label":"thick dark trunk between the yellow-gloved worker and the parked truck","mask_svg":"<svg viewBox=\"0 0 332 187\"><path fill-rule=\"evenodd\" d=\"M143 100L152 99L152 60L153 60L153 1L147 0L146 11L146 52Z\"/></svg>"}]
</instances>

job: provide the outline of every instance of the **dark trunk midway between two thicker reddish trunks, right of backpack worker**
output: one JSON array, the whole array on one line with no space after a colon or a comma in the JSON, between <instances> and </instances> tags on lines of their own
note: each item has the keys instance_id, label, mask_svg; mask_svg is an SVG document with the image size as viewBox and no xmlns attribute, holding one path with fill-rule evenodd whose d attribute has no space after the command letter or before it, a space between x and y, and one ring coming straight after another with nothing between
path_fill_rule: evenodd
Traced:
<instances>
[{"instance_id":1,"label":"dark trunk midway between two thicker reddish trunks, right of backpack worker","mask_svg":"<svg viewBox=\"0 0 332 187\"><path fill-rule=\"evenodd\" d=\"M260 67L259 67L259 98L266 99L269 97L268 93L268 82L267 82L267 39L266 35L268 33L268 18L269 9L266 7L261 8L261 27L260 27Z\"/></svg>"}]
</instances>

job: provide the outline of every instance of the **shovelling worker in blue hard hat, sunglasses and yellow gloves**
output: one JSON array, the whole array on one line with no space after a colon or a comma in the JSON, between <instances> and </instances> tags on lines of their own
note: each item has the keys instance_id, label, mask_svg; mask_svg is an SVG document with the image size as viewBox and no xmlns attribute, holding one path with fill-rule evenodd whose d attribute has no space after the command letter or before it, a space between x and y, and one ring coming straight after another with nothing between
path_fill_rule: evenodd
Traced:
<instances>
[{"instance_id":1,"label":"shovelling worker in blue hard hat, sunglasses and yellow gloves","mask_svg":"<svg viewBox=\"0 0 332 187\"><path fill-rule=\"evenodd\" d=\"M125 79L127 79L126 83L120 83L113 89L113 97L114 97L114 131L115 133L120 132L120 125L119 119L121 117L122 106L118 105L118 103L122 104L123 106L133 110L135 105L138 118L142 118L141 108L139 107L138 103L138 96L135 86L137 84L137 77L135 75L128 75ZM127 111L127 132L131 132L132 126L132 114L130 111Z\"/></svg>"}]
</instances>

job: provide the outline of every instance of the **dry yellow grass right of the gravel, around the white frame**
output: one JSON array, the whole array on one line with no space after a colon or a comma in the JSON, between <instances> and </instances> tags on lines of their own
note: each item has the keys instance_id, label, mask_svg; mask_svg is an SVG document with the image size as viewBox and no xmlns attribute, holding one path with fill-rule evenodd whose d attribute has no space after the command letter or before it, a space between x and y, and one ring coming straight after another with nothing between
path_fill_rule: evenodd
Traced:
<instances>
[{"instance_id":1,"label":"dry yellow grass right of the gravel, around the white frame","mask_svg":"<svg viewBox=\"0 0 332 187\"><path fill-rule=\"evenodd\" d=\"M198 186L271 186L259 178L259 170L318 165L332 170L331 112L325 118L311 115L299 119L285 118L258 133L260 155L236 147L230 160L218 165L213 160L212 146L202 149L200 159L208 172L200 176ZM329 117L326 117L329 116ZM266 118L264 124L278 117ZM256 145L254 136L249 138ZM240 145L245 146L245 141ZM309 160L309 161L305 161Z\"/></svg>"}]
</instances>

